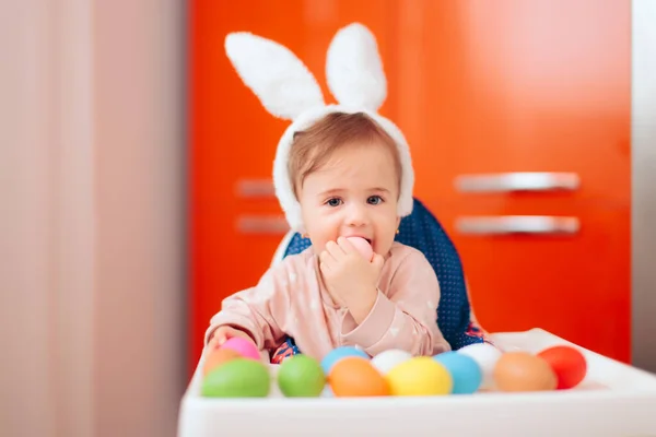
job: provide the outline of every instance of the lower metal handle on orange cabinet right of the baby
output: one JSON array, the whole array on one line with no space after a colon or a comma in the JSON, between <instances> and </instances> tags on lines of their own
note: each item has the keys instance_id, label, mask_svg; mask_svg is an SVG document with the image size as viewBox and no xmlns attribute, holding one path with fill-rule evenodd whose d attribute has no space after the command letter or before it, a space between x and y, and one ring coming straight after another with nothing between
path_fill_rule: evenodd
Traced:
<instances>
[{"instance_id":1,"label":"lower metal handle on orange cabinet right of the baby","mask_svg":"<svg viewBox=\"0 0 656 437\"><path fill-rule=\"evenodd\" d=\"M456 218L456 229L468 235L576 234L578 218L550 215L502 215Z\"/></svg>"}]
</instances>

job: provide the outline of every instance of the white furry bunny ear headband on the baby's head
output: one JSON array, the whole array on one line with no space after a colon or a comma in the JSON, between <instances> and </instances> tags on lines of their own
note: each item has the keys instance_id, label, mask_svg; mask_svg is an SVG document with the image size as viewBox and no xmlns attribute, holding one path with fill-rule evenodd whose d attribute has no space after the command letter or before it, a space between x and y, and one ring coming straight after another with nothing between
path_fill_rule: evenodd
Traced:
<instances>
[{"instance_id":1,"label":"white furry bunny ear headband on the baby's head","mask_svg":"<svg viewBox=\"0 0 656 437\"><path fill-rule=\"evenodd\" d=\"M402 168L398 215L412 212L414 173L410 151L401 131L377 114L387 94L387 80L376 40L365 26L353 23L341 28L328 48L326 76L339 105L326 105L314 75L292 51L276 42L247 32L231 33L225 38L225 51L262 106L271 115L292 121L278 143L273 185L293 231L304 231L301 205L288 173L294 133L337 111L364 113L395 140Z\"/></svg>"}]
</instances>

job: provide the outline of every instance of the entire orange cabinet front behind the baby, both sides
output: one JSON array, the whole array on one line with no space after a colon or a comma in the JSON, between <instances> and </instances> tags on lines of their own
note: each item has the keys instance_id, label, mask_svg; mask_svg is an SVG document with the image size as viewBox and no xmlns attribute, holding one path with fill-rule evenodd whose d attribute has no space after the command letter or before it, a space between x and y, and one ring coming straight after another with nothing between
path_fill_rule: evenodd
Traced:
<instances>
[{"instance_id":1,"label":"entire orange cabinet front behind the baby, both sides","mask_svg":"<svg viewBox=\"0 0 656 437\"><path fill-rule=\"evenodd\" d=\"M353 21L376 35L389 84L382 113L409 140L415 194L454 238L482 324L541 327L628 361L630 3L195 0L191 363L221 300L257 282L284 232L270 175L286 122L242 84L223 51L225 35L249 31L285 45L330 102L326 49ZM462 176L525 172L565 173L579 185L492 193L455 186ZM535 223L508 221L514 215L572 217L579 229L534 234ZM500 228L483 216L506 222ZM467 234L472 225L482 234Z\"/></svg>"}]
</instances>

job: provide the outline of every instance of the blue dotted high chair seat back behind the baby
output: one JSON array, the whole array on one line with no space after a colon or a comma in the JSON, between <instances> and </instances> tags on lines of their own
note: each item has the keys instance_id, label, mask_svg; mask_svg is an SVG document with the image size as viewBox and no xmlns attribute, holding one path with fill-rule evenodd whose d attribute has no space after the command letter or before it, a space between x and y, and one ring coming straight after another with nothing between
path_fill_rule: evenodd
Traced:
<instances>
[{"instance_id":1,"label":"blue dotted high chair seat back behind the baby","mask_svg":"<svg viewBox=\"0 0 656 437\"><path fill-rule=\"evenodd\" d=\"M488 341L471 310L458 251L437 218L418 199L412 213L401 218L396 240L422 251L435 269L441 290L436 321L452 349ZM277 257L301 253L309 246L309 239L294 233L283 240Z\"/></svg>"}]
</instances>

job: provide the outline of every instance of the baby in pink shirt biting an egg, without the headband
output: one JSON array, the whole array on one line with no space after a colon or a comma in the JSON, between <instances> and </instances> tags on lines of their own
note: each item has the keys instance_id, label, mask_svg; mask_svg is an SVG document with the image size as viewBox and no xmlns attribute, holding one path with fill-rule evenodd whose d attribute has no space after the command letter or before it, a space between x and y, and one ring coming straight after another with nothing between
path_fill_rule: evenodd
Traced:
<instances>
[{"instance_id":1,"label":"baby in pink shirt biting an egg, without the headband","mask_svg":"<svg viewBox=\"0 0 656 437\"><path fill-rule=\"evenodd\" d=\"M372 356L449 350L436 322L433 268L422 252L395 241L403 175L395 140L364 113L335 111L294 133L286 163L312 246L226 298L206 341L242 336L270 353L291 336L317 359L343 345ZM351 236L371 244L371 261Z\"/></svg>"}]
</instances>

